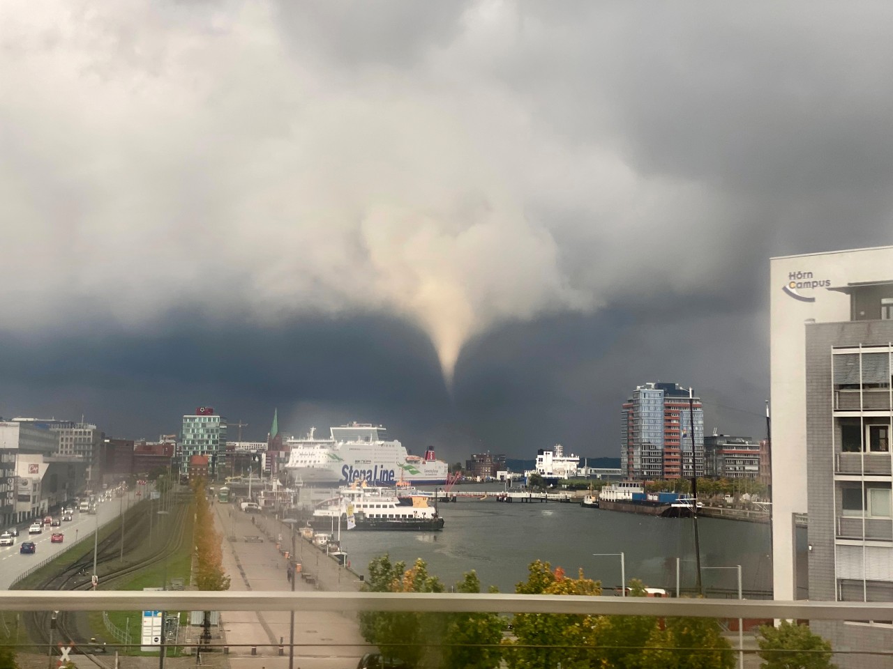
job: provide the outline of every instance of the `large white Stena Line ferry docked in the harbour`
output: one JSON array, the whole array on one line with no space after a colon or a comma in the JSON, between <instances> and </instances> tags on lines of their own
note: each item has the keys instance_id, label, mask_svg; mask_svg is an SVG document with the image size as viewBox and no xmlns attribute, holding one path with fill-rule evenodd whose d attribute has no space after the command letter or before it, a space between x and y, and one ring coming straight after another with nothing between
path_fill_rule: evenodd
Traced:
<instances>
[{"instance_id":1,"label":"large white Stena Line ferry docked in the harbour","mask_svg":"<svg viewBox=\"0 0 893 669\"><path fill-rule=\"evenodd\" d=\"M410 455L400 442L387 441L387 430L370 423L348 423L330 429L329 439L315 436L315 428L304 439L291 438L286 470L305 485L414 485L447 482L447 463L429 448L424 458Z\"/></svg>"}]
</instances>

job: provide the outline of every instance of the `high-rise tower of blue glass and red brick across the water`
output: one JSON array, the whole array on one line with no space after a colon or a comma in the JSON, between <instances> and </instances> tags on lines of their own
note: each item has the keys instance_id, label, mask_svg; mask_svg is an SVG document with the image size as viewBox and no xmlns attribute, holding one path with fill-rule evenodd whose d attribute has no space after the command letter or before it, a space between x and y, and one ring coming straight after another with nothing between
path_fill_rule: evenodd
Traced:
<instances>
[{"instance_id":1,"label":"high-rise tower of blue glass and red brick across the water","mask_svg":"<svg viewBox=\"0 0 893 669\"><path fill-rule=\"evenodd\" d=\"M679 384L639 385L623 404L620 465L625 478L703 476L700 398Z\"/></svg>"}]
</instances>

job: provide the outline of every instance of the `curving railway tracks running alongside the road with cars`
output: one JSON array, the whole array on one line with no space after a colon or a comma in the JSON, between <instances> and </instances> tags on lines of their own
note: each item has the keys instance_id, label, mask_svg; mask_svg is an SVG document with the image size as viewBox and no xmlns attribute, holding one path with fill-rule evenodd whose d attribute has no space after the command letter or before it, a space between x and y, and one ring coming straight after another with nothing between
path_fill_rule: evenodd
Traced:
<instances>
[{"instance_id":1,"label":"curving railway tracks running alongside the road with cars","mask_svg":"<svg viewBox=\"0 0 893 669\"><path fill-rule=\"evenodd\" d=\"M152 546L153 550L148 553L147 557L136 564L125 564L113 569L104 569L102 574L103 584L107 585L116 582L125 576L142 571L146 566L163 562L171 552L179 549L182 542L186 539L184 532L188 508L188 503L183 501L175 504L171 516L169 516L171 518L171 530L166 534L164 543ZM134 509L135 512L138 510L138 508ZM129 516L125 520L124 541L131 547L128 553L138 552L145 548L144 544L149 541L149 517L146 513L134 513L133 516ZM119 528L98 543L96 547L97 571L99 565L107 566L108 563L119 559L121 555L120 550L121 529ZM128 553L125 553L125 557ZM89 590L92 587L92 571L93 551L89 551L74 564L41 583L38 586L38 590ZM49 644L60 640L68 642L70 645L73 643L75 646L88 646L89 640L85 639L79 631L78 621L81 616L82 614L79 612L60 611L56 615L56 629L52 640L50 639L52 612L30 612L25 615L24 624L32 642L38 643L45 648ZM106 669L104 662L99 657L96 657L95 654L83 653L79 654L79 657L86 657L93 665Z\"/></svg>"}]
</instances>

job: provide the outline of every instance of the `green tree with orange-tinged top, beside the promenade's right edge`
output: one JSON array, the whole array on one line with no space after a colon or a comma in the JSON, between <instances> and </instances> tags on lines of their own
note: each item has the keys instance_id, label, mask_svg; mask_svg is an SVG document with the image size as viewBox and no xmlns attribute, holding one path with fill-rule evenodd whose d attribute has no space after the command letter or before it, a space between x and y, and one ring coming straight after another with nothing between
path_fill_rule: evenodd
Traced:
<instances>
[{"instance_id":1,"label":"green tree with orange-tinged top, beside the promenade's right edge","mask_svg":"<svg viewBox=\"0 0 893 669\"><path fill-rule=\"evenodd\" d=\"M369 563L366 592L443 592L437 576L428 574L425 561L417 559L409 569L405 563L392 563L386 554ZM400 657L411 666L439 664L439 643L444 638L444 614L413 611L367 611L360 615L363 638L379 647L388 657Z\"/></svg>"}]
</instances>

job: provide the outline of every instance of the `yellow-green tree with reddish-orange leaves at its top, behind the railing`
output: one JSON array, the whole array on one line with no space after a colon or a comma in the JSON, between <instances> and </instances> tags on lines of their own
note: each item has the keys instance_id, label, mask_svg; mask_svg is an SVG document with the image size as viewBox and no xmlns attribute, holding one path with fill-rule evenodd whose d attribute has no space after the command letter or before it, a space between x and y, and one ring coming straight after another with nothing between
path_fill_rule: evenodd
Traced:
<instances>
[{"instance_id":1,"label":"yellow-green tree with reddish-orange leaves at its top, behind the railing","mask_svg":"<svg viewBox=\"0 0 893 669\"><path fill-rule=\"evenodd\" d=\"M519 594L590 595L602 593L600 582L583 576L576 579L555 571L548 562L536 560L528 567L527 581L515 586ZM597 619L592 615L515 614L514 634L517 641L505 661L511 669L553 669L559 662L563 669L588 669Z\"/></svg>"}]
</instances>

